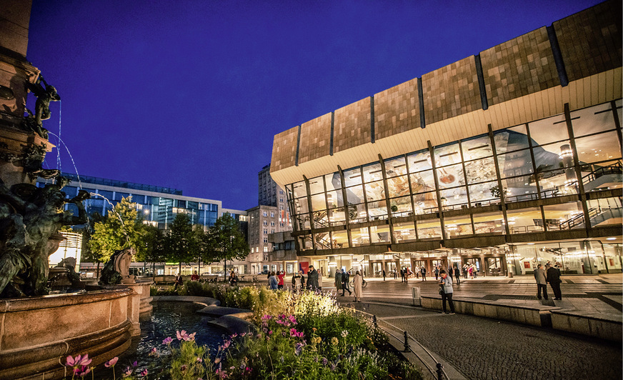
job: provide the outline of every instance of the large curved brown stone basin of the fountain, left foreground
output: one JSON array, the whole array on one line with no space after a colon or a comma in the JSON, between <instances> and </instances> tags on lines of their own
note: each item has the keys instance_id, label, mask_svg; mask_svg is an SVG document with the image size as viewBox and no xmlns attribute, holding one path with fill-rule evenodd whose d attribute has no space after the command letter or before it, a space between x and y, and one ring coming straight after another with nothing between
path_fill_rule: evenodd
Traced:
<instances>
[{"instance_id":1,"label":"large curved brown stone basin of the fountain, left foreground","mask_svg":"<svg viewBox=\"0 0 623 380\"><path fill-rule=\"evenodd\" d=\"M61 379L68 355L88 353L97 365L121 354L136 335L140 296L124 287L0 300L0 379Z\"/></svg>"}]
</instances>

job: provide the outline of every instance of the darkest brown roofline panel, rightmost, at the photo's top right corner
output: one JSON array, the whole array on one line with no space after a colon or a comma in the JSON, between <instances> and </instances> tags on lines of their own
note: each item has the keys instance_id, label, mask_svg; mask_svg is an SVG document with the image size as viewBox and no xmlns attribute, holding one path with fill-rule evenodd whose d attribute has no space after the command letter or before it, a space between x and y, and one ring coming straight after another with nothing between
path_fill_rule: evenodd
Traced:
<instances>
[{"instance_id":1,"label":"darkest brown roofline panel, rightmost, at the photo's top right corner","mask_svg":"<svg viewBox=\"0 0 623 380\"><path fill-rule=\"evenodd\" d=\"M554 22L569 81L621 66L621 1L605 1Z\"/></svg>"}]
</instances>

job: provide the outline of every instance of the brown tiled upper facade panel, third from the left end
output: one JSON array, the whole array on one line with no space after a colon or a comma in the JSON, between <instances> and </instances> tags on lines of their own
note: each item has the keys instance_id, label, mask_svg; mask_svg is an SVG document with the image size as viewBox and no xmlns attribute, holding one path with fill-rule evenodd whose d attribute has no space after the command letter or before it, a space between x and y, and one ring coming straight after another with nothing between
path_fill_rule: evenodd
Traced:
<instances>
[{"instance_id":1,"label":"brown tiled upper facade panel, third from the left end","mask_svg":"<svg viewBox=\"0 0 623 380\"><path fill-rule=\"evenodd\" d=\"M334 153L370 142L370 98L335 110L333 135Z\"/></svg>"}]
</instances>

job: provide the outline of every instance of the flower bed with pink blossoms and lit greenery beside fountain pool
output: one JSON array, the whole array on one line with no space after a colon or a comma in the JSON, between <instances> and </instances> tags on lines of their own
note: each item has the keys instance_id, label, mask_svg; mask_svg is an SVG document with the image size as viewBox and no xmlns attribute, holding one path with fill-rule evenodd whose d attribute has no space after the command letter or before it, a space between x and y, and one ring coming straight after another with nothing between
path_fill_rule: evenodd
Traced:
<instances>
[{"instance_id":1,"label":"flower bed with pink blossoms and lit greenery beside fountain pool","mask_svg":"<svg viewBox=\"0 0 623 380\"><path fill-rule=\"evenodd\" d=\"M126 379L422 379L419 369L394 354L387 336L352 309L322 293L230 288L186 283L179 295L210 296L223 306L255 312L256 334L231 336L210 355L193 334L178 331L151 354L166 361L160 373L122 368ZM169 293L171 294L171 293ZM75 364L71 358L69 364ZM111 359L114 363L114 359ZM111 362L107 363L111 364ZM74 376L89 372L74 366ZM87 367L88 368L88 367ZM114 371L114 365L110 366ZM107 371L110 371L108 369ZM91 371L92 373L92 371ZM113 374L111 379L116 379Z\"/></svg>"}]
</instances>

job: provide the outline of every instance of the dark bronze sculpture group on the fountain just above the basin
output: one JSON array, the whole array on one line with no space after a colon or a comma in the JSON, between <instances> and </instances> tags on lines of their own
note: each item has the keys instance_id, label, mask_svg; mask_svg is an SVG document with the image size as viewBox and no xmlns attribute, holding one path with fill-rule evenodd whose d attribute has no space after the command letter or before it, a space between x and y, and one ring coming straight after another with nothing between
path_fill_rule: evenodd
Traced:
<instances>
[{"instance_id":1,"label":"dark bronze sculpture group on the fountain just above the basin","mask_svg":"<svg viewBox=\"0 0 623 380\"><path fill-rule=\"evenodd\" d=\"M85 224L84 190L66 200L64 181L37 188L18 184L7 189L0 183L0 292L2 296L46 294L48 241L61 226ZM75 204L79 216L65 214L65 203ZM9 286L10 284L10 286Z\"/></svg>"}]
</instances>

